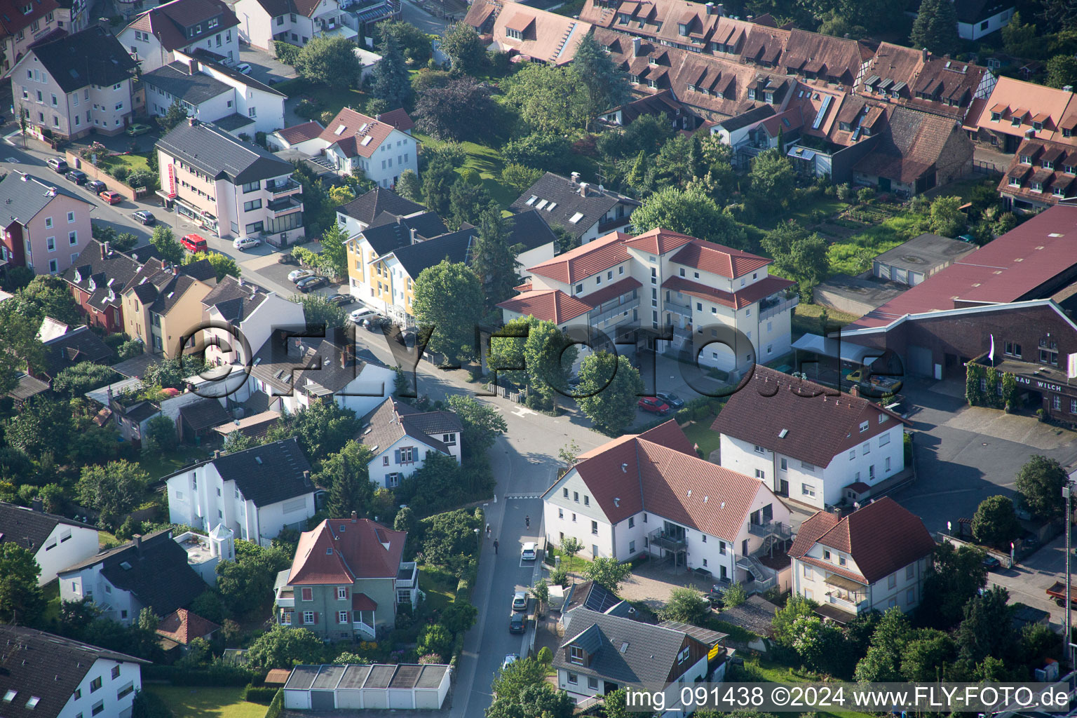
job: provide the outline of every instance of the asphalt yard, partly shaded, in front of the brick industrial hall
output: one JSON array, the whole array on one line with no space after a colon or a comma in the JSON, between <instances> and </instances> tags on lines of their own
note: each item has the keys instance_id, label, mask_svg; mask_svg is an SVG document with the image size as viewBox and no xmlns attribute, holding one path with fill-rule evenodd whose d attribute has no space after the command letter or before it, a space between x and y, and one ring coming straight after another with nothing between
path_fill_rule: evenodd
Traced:
<instances>
[{"instance_id":1,"label":"asphalt yard, partly shaded, in front of the brick industrial hall","mask_svg":"<svg viewBox=\"0 0 1077 718\"><path fill-rule=\"evenodd\" d=\"M988 496L1012 496L1018 470L1043 454L1063 466L1077 461L1072 432L1041 424L1033 417L1007 416L968 407L964 384L910 379L903 393L912 408L917 482L893 494L929 531L970 519Z\"/></svg>"}]
</instances>

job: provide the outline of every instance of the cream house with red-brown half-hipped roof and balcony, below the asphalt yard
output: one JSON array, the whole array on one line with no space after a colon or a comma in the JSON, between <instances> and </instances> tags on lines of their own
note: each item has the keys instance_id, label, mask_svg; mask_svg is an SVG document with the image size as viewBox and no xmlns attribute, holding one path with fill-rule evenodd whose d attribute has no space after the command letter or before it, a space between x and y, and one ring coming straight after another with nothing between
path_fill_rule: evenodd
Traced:
<instances>
[{"instance_id":1,"label":"cream house with red-brown half-hipped roof and balcony, below the asphalt yard","mask_svg":"<svg viewBox=\"0 0 1077 718\"><path fill-rule=\"evenodd\" d=\"M923 600L934 552L920 518L890 496L845 517L817 511L800 524L789 549L793 591L840 623L895 606L910 611Z\"/></svg>"}]
</instances>

